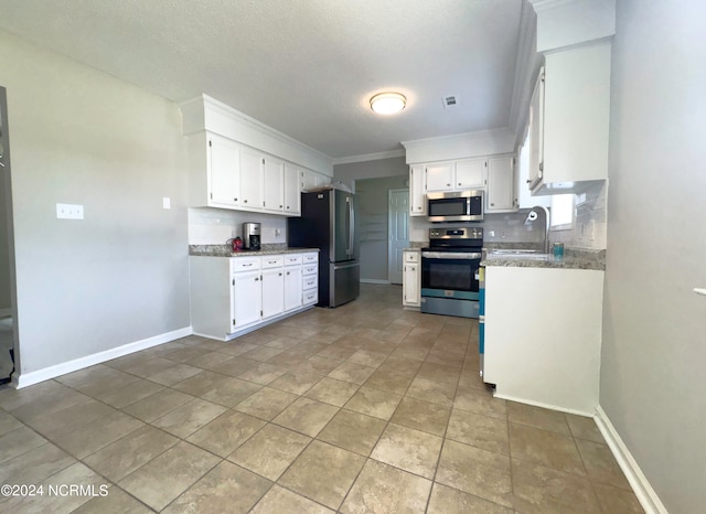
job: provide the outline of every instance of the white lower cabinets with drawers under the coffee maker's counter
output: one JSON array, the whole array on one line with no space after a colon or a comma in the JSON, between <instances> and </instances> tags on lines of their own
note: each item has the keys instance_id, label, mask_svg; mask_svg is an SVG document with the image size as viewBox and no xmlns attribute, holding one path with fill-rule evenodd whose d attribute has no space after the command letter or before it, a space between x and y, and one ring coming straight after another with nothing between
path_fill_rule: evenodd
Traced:
<instances>
[{"instance_id":1,"label":"white lower cabinets with drawers under the coffee maker's counter","mask_svg":"<svg viewBox=\"0 0 706 514\"><path fill-rule=\"evenodd\" d=\"M318 254L191 256L194 334L228 341L319 301ZM307 274L307 275L304 275ZM304 289L306 288L306 289Z\"/></svg>"}]
</instances>

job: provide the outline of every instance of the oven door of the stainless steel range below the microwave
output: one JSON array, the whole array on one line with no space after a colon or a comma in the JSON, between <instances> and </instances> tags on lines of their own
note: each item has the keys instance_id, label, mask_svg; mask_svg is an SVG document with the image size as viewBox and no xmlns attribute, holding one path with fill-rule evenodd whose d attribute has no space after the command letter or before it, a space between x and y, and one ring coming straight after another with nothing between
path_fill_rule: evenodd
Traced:
<instances>
[{"instance_id":1,"label":"oven door of the stainless steel range below the microwave","mask_svg":"<svg viewBox=\"0 0 706 514\"><path fill-rule=\"evenodd\" d=\"M478 300L481 253L421 251L421 296Z\"/></svg>"}]
</instances>

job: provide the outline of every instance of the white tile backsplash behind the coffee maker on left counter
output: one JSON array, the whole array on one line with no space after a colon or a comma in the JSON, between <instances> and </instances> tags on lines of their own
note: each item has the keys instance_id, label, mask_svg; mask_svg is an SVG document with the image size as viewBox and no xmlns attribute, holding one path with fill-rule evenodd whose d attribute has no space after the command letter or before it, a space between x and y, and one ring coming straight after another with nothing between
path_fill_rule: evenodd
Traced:
<instances>
[{"instance_id":1,"label":"white tile backsplash behind the coffee maker on left counter","mask_svg":"<svg viewBox=\"0 0 706 514\"><path fill-rule=\"evenodd\" d=\"M287 217L277 214L247 213L225 208L189 208L189 244L224 245L233 237L243 237L243 223L261 223L261 243L287 243Z\"/></svg>"}]
</instances>

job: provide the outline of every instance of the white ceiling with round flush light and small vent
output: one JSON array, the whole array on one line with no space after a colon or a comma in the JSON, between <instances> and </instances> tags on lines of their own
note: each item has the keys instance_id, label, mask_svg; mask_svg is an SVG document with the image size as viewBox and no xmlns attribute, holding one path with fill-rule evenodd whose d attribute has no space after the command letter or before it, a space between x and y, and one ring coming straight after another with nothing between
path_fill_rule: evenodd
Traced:
<instances>
[{"instance_id":1,"label":"white ceiling with round flush light and small vent","mask_svg":"<svg viewBox=\"0 0 706 514\"><path fill-rule=\"evenodd\" d=\"M340 159L509 127L523 1L0 0L0 29ZM408 104L383 118L367 100L388 89Z\"/></svg>"}]
</instances>

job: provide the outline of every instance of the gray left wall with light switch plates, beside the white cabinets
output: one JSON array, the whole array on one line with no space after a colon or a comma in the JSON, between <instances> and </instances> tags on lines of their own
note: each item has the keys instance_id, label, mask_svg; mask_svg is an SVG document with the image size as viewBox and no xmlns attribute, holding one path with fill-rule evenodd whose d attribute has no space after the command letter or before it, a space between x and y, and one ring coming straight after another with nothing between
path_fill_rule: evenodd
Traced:
<instances>
[{"instance_id":1,"label":"gray left wall with light switch plates, beside the white cabinets","mask_svg":"<svg viewBox=\"0 0 706 514\"><path fill-rule=\"evenodd\" d=\"M7 32L0 62L21 373L188 328L176 106ZM56 219L56 203L83 204L85 219Z\"/></svg>"}]
</instances>

